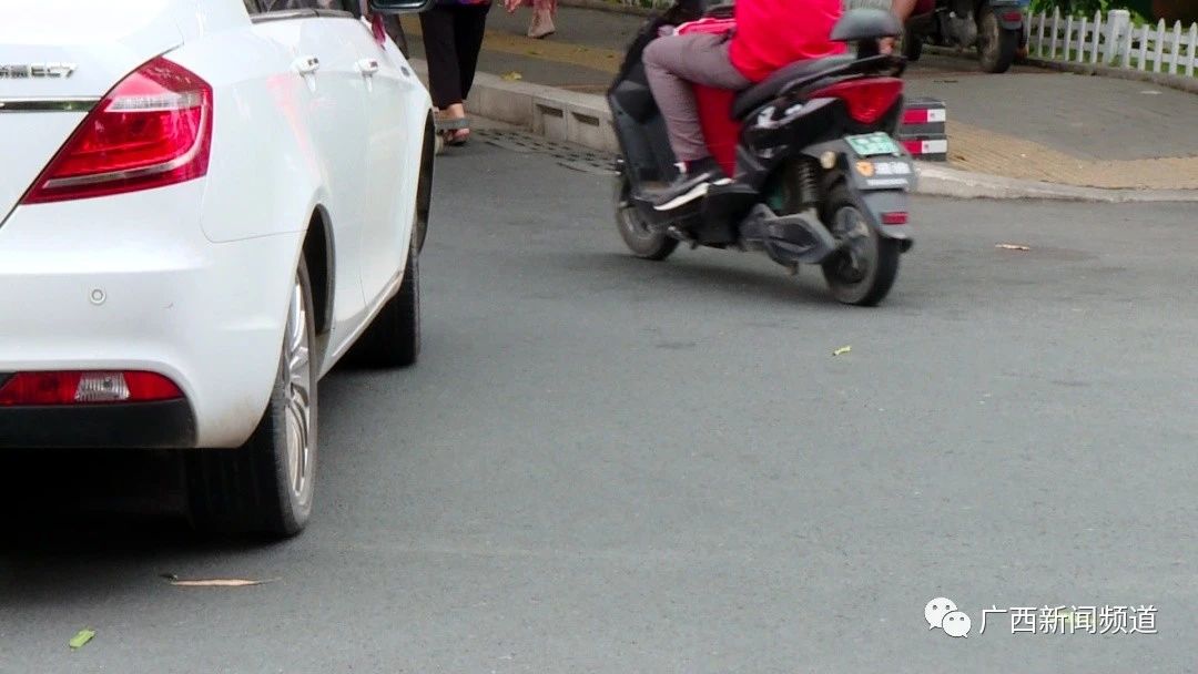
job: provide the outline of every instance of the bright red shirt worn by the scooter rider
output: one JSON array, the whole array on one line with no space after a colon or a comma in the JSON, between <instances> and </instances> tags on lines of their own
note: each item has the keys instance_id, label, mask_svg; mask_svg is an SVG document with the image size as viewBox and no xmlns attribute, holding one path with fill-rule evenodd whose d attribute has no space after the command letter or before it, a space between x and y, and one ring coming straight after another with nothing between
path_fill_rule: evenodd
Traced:
<instances>
[{"instance_id":1,"label":"bright red shirt worn by the scooter rider","mask_svg":"<svg viewBox=\"0 0 1198 674\"><path fill-rule=\"evenodd\" d=\"M843 54L845 44L828 40L842 1L737 0L732 65L757 83L794 61Z\"/></svg>"}]
</instances>

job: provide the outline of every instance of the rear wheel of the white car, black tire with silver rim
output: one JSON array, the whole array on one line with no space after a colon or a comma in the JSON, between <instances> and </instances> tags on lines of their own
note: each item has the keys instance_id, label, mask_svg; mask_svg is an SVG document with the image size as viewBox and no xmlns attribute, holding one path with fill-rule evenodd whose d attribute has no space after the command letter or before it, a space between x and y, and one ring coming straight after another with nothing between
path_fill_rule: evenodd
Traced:
<instances>
[{"instance_id":1,"label":"rear wheel of the white car, black tire with silver rim","mask_svg":"<svg viewBox=\"0 0 1198 674\"><path fill-rule=\"evenodd\" d=\"M316 478L315 323L308 266L296 272L279 368L244 445L184 455L192 523L210 533L289 538L311 515Z\"/></svg>"}]
</instances>

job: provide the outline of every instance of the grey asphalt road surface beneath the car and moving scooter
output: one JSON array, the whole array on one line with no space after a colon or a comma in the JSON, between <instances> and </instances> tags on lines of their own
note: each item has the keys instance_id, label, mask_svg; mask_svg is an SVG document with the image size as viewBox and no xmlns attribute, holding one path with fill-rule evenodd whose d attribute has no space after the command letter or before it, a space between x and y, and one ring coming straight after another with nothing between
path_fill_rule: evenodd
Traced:
<instances>
[{"instance_id":1,"label":"grey asphalt road surface beneath the car and moving scooter","mask_svg":"<svg viewBox=\"0 0 1198 674\"><path fill-rule=\"evenodd\" d=\"M0 672L1194 670L1192 205L918 200L869 310L634 260L606 181L541 156L476 142L437 190L423 360L322 383L303 536L126 515L150 455L0 461ZM1158 633L978 633L1043 605Z\"/></svg>"}]
</instances>

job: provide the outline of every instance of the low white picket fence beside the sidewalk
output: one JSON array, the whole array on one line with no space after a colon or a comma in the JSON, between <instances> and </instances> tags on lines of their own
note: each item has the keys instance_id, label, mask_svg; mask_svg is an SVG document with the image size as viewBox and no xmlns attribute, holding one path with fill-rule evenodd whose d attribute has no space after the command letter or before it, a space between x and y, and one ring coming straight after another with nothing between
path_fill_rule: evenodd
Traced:
<instances>
[{"instance_id":1,"label":"low white picket fence beside the sidewalk","mask_svg":"<svg viewBox=\"0 0 1198 674\"><path fill-rule=\"evenodd\" d=\"M1137 68L1154 73L1193 77L1198 69L1198 23L1172 28L1135 25L1126 11L1090 17L1041 13L1025 24L1028 53L1041 59Z\"/></svg>"}]
</instances>

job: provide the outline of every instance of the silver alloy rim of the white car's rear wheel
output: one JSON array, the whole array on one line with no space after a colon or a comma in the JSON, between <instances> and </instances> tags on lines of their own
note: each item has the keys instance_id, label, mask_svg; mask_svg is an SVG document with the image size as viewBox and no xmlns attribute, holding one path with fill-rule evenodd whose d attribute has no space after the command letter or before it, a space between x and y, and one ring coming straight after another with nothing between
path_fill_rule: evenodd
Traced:
<instances>
[{"instance_id":1,"label":"silver alloy rim of the white car's rear wheel","mask_svg":"<svg viewBox=\"0 0 1198 674\"><path fill-rule=\"evenodd\" d=\"M308 345L308 308L298 283L291 291L284 350L288 485L292 496L302 500L311 481L311 351Z\"/></svg>"}]
</instances>

